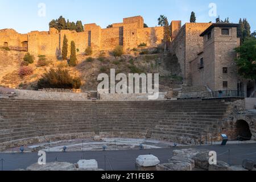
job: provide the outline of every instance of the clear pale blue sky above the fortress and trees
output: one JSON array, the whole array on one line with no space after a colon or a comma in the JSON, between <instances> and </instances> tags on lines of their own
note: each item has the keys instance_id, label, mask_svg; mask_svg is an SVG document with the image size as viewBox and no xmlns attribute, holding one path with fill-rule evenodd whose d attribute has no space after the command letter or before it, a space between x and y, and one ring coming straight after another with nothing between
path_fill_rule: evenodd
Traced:
<instances>
[{"instance_id":1,"label":"clear pale blue sky above the fortress and trees","mask_svg":"<svg viewBox=\"0 0 256 182\"><path fill-rule=\"evenodd\" d=\"M45 3L46 16L38 16L39 3ZM209 3L217 5L221 19L229 17L233 23L247 18L251 31L256 30L255 0L0 0L0 29L14 28L20 33L33 30L47 31L51 19L63 15L71 21L97 23L102 28L108 24L122 22L122 18L142 15L150 27L157 25L160 14L168 20L189 22L191 11L195 11L197 22L214 22L209 16Z\"/></svg>"}]
</instances>

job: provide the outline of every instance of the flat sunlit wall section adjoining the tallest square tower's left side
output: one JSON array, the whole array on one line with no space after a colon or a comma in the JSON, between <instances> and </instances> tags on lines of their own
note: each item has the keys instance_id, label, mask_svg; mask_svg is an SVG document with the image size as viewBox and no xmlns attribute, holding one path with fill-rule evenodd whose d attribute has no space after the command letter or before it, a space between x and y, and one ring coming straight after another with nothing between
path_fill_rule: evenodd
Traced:
<instances>
[{"instance_id":1,"label":"flat sunlit wall section adjoining the tallest square tower's left side","mask_svg":"<svg viewBox=\"0 0 256 182\"><path fill-rule=\"evenodd\" d=\"M119 46L119 32L122 27L105 28L101 30L101 49L114 49Z\"/></svg>"}]
</instances>

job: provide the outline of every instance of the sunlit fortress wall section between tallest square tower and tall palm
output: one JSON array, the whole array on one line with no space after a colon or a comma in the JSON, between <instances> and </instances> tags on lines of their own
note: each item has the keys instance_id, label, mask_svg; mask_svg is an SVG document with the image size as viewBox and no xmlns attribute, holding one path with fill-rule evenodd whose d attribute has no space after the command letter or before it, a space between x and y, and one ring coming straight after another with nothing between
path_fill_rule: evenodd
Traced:
<instances>
[{"instance_id":1,"label":"sunlit fortress wall section between tallest square tower and tall palm","mask_svg":"<svg viewBox=\"0 0 256 182\"><path fill-rule=\"evenodd\" d=\"M163 27L139 28L137 45L146 43L147 47L156 47L162 44L163 34Z\"/></svg>"}]
</instances>

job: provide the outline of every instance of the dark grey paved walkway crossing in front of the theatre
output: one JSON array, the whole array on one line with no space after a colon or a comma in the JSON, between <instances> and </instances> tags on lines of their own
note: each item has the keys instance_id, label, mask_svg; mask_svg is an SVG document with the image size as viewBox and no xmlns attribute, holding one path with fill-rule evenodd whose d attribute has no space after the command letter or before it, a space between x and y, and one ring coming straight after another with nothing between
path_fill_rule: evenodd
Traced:
<instances>
[{"instance_id":1,"label":"dark grey paved walkway crossing in front of the theatre","mask_svg":"<svg viewBox=\"0 0 256 182\"><path fill-rule=\"evenodd\" d=\"M228 150L230 150L230 163L241 165L243 159L256 160L256 143L228 144L227 146L194 146L194 147L171 147L148 150L121 150L121 151L85 151L85 152L50 152L47 153L47 162L77 163L80 159L96 159L99 168L114 171L129 171L135 169L135 159L138 155L152 154L159 158L161 163L166 163L172 156L172 151L180 148L206 148L217 152L217 160L229 162ZM106 163L105 163L106 156ZM3 159L3 170L15 170L26 168L38 160L37 152L24 154L0 153Z\"/></svg>"}]
</instances>

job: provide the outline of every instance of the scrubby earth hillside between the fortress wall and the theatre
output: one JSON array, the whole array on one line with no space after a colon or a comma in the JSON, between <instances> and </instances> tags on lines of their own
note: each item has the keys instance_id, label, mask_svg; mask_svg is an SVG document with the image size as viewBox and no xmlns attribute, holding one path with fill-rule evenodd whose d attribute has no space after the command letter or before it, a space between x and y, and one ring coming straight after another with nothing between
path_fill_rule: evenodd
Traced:
<instances>
[{"instance_id":1,"label":"scrubby earth hillside between the fortress wall and the theatre","mask_svg":"<svg viewBox=\"0 0 256 182\"><path fill-rule=\"evenodd\" d=\"M92 56L77 55L76 67L69 67L67 61L56 57L35 56L35 61L27 67L32 73L20 76L20 67L26 52L0 49L0 85L20 89L37 89L40 78L51 68L66 69L71 76L80 77L82 90L97 90L100 73L159 73L160 90L179 88L182 84L180 65L175 56L164 55L154 49L135 49L125 55L114 57L111 53L100 52ZM42 58L43 57L43 58Z\"/></svg>"}]
</instances>

